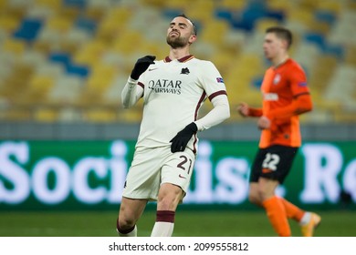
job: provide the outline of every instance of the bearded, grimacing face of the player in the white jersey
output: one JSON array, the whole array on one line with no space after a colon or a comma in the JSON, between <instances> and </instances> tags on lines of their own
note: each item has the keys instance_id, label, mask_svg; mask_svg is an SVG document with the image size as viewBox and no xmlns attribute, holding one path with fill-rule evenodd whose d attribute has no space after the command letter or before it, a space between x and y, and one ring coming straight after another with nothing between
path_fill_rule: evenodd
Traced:
<instances>
[{"instance_id":1,"label":"bearded, grimacing face of the player in the white jersey","mask_svg":"<svg viewBox=\"0 0 356 255\"><path fill-rule=\"evenodd\" d=\"M167 31L167 44L173 48L184 47L195 40L192 23L184 17L173 19Z\"/></svg>"}]
</instances>

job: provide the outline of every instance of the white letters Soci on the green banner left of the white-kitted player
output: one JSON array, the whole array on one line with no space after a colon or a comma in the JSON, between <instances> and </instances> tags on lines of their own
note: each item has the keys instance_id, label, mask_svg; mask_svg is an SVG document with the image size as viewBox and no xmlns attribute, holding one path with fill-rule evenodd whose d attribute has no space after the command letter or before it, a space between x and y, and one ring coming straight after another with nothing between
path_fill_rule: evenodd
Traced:
<instances>
[{"instance_id":1,"label":"white letters Soci on the green banner left of the white-kitted player","mask_svg":"<svg viewBox=\"0 0 356 255\"><path fill-rule=\"evenodd\" d=\"M112 158L81 158L72 171L61 158L41 158L32 171L28 170L32 173L29 175L25 168L19 166L29 160L28 144L0 143L0 203L24 202L30 196L31 189L34 196L45 204L63 202L68 199L71 190L75 198L83 203L99 203L105 199L119 203L127 172L126 147L123 141L114 141L110 147ZM89 172L93 172L99 179L110 176L109 190L104 186L89 187ZM50 173L54 174L56 180L53 188L48 187ZM8 187L5 183L8 183Z\"/></svg>"}]
</instances>

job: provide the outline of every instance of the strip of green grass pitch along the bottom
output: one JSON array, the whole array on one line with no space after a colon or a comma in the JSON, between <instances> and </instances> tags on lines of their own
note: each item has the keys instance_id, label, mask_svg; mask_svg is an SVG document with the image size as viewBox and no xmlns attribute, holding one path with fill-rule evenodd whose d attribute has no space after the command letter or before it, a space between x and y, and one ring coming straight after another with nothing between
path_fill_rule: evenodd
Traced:
<instances>
[{"instance_id":1,"label":"strip of green grass pitch along the bottom","mask_svg":"<svg viewBox=\"0 0 356 255\"><path fill-rule=\"evenodd\" d=\"M356 237L356 211L319 211L317 237ZM2 237L115 237L117 211L11 211L0 212ZM138 222L139 236L148 237L155 211L146 210ZM298 224L290 221L293 236ZM175 218L175 237L273 237L262 210L182 210Z\"/></svg>"}]
</instances>

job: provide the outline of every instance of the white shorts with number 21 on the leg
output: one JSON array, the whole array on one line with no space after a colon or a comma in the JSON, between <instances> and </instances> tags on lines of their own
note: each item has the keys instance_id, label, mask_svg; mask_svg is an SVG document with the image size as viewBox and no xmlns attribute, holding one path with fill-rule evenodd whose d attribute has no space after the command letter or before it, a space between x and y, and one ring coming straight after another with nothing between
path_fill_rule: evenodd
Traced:
<instances>
[{"instance_id":1,"label":"white shorts with number 21 on the leg","mask_svg":"<svg viewBox=\"0 0 356 255\"><path fill-rule=\"evenodd\" d=\"M186 194L192 177L195 155L186 148L171 152L171 148L136 150L126 177L122 196L128 199L157 200L162 183L172 183Z\"/></svg>"}]
</instances>

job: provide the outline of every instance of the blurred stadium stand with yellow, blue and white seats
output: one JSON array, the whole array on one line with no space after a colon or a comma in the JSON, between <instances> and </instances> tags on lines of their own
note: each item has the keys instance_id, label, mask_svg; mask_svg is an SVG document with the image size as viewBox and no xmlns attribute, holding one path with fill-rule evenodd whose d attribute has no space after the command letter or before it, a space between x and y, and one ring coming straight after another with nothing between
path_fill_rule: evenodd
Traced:
<instances>
[{"instance_id":1,"label":"blurred stadium stand with yellow, blue and white seats","mask_svg":"<svg viewBox=\"0 0 356 255\"><path fill-rule=\"evenodd\" d=\"M261 42L281 25L315 102L302 120L356 122L355 0L0 0L0 119L140 121L141 103L123 110L120 90L138 57L165 56L164 31L182 13L198 26L194 55L225 77L229 121L241 100L260 103Z\"/></svg>"}]
</instances>

